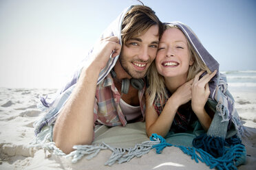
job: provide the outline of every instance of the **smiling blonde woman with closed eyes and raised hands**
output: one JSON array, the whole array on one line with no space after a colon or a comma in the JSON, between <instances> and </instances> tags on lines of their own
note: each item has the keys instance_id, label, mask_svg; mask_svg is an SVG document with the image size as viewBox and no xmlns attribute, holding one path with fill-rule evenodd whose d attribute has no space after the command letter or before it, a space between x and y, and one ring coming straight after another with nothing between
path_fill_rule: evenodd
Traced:
<instances>
[{"instance_id":1,"label":"smiling blonde woman with closed eyes and raised hands","mask_svg":"<svg viewBox=\"0 0 256 170\"><path fill-rule=\"evenodd\" d=\"M211 93L209 82L217 73L218 64L204 48L203 54L196 52L195 44L191 45L193 40L185 36L188 27L182 30L178 25L182 27L182 23L164 24L156 61L148 72L148 136L153 133L166 136L169 131L191 132L197 121L207 132L215 113L206 101ZM206 66L211 63L216 65L212 66L212 71Z\"/></svg>"}]
</instances>

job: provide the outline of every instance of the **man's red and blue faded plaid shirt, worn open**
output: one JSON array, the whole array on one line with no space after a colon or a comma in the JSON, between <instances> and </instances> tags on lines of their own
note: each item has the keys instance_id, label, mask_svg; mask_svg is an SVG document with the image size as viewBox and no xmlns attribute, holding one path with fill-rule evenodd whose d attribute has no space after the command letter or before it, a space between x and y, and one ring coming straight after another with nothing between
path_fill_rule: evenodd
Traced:
<instances>
[{"instance_id":1,"label":"man's red and blue faded plaid shirt, worn open","mask_svg":"<svg viewBox=\"0 0 256 170\"><path fill-rule=\"evenodd\" d=\"M139 90L138 97L140 101L140 109L142 117L138 121L145 119L145 88ZM126 125L125 115L120 108L121 95L114 85L113 78L109 73L105 79L98 84L96 88L96 98L94 101L94 123L104 124L108 126Z\"/></svg>"}]
</instances>

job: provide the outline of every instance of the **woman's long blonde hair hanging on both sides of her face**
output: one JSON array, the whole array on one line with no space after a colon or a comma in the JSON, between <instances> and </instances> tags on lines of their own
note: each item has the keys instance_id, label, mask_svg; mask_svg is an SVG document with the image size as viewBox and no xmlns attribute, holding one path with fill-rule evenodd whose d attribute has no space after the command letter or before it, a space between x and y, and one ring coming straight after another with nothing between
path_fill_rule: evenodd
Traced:
<instances>
[{"instance_id":1,"label":"woman's long blonde hair hanging on both sides of her face","mask_svg":"<svg viewBox=\"0 0 256 170\"><path fill-rule=\"evenodd\" d=\"M176 25L164 23L164 31L170 28L180 29ZM193 60L193 64L189 66L188 75L186 77L186 82L188 82L189 80L192 80L195 75L202 70L207 71L207 73L211 73L211 71L201 60L200 56L198 56L198 53L196 53L195 49L193 48L187 37L186 42L189 47L189 55L191 57L191 60ZM149 104L154 104L154 101L156 99L156 101L160 100L160 104L162 106L164 99L168 99L169 96L167 95L167 91L165 88L164 77L158 73L155 62L152 62L151 66L149 67L147 71L147 78L149 81L149 88L147 88L147 93L149 94Z\"/></svg>"}]
</instances>

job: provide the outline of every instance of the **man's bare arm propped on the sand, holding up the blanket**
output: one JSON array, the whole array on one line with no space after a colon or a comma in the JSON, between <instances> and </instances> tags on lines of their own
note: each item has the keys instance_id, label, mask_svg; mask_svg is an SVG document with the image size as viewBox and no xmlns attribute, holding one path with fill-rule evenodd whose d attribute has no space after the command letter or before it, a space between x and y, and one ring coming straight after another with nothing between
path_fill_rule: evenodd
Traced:
<instances>
[{"instance_id":1,"label":"man's bare arm propped on the sand, holding up the blanket","mask_svg":"<svg viewBox=\"0 0 256 170\"><path fill-rule=\"evenodd\" d=\"M117 37L100 40L92 53L92 60L78 79L70 98L61 109L53 130L56 147L68 154L74 145L90 145L94 136L94 100L98 75L109 56L117 56L121 46Z\"/></svg>"}]
</instances>

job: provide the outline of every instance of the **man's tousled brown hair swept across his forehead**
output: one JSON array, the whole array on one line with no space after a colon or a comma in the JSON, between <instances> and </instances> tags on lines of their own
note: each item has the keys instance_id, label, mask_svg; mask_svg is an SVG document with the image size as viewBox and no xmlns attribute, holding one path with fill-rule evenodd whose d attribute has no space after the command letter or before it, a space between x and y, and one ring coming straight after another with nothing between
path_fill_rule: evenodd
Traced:
<instances>
[{"instance_id":1,"label":"man's tousled brown hair swept across his forehead","mask_svg":"<svg viewBox=\"0 0 256 170\"><path fill-rule=\"evenodd\" d=\"M127 40L140 36L153 26L158 25L158 35L162 35L162 23L155 12L145 5L134 5L122 21L122 44Z\"/></svg>"}]
</instances>

